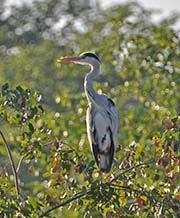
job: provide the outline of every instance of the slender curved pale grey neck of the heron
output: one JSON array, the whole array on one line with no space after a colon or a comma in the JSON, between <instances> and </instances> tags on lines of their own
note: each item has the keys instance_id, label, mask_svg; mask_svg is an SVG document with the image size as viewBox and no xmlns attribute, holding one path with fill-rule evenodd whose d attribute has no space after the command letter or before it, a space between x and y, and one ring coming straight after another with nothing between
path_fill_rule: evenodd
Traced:
<instances>
[{"instance_id":1,"label":"slender curved pale grey neck of the heron","mask_svg":"<svg viewBox=\"0 0 180 218\"><path fill-rule=\"evenodd\" d=\"M87 99L89 102L95 103L95 104L98 101L98 94L94 90L92 82L93 82L93 79L98 75L99 72L100 72L99 63L91 65L91 70L89 73L87 73L87 75L84 79L84 90L85 90L85 94L87 96Z\"/></svg>"}]
</instances>

